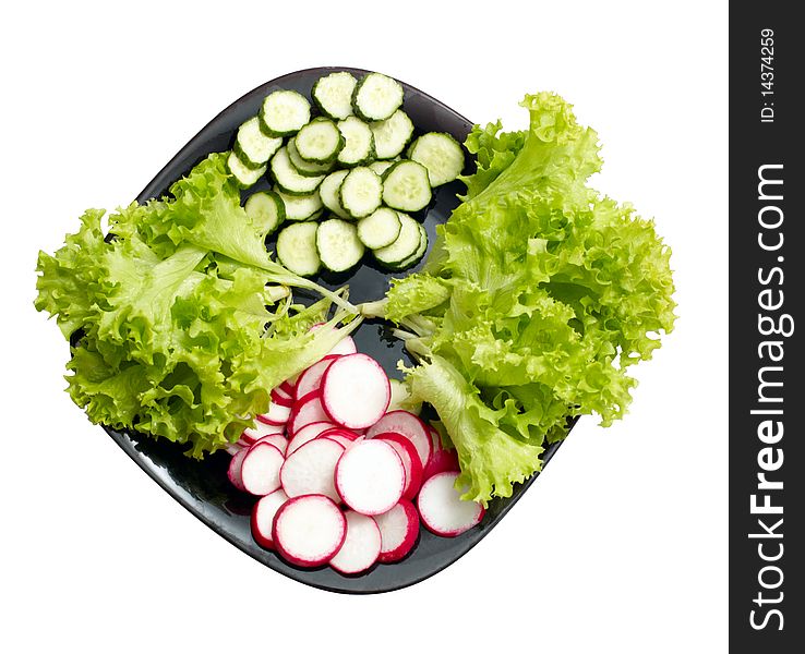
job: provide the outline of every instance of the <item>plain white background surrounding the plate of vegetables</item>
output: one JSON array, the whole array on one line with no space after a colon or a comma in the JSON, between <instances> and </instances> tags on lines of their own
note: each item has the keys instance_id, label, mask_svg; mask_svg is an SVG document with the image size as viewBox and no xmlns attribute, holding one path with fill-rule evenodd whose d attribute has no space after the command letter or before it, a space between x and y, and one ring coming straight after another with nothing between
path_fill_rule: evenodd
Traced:
<instances>
[{"instance_id":1,"label":"plain white background surrounding the plate of vegetables","mask_svg":"<svg viewBox=\"0 0 805 654\"><path fill-rule=\"evenodd\" d=\"M15 3L0 26L0 650L722 652L726 642L726 3ZM315 591L168 497L63 392L36 253L128 203L213 116L314 65L525 125L554 89L594 184L673 247L681 318L621 424L582 420L476 549L380 596ZM249 649L248 649L249 647Z\"/></svg>"}]
</instances>

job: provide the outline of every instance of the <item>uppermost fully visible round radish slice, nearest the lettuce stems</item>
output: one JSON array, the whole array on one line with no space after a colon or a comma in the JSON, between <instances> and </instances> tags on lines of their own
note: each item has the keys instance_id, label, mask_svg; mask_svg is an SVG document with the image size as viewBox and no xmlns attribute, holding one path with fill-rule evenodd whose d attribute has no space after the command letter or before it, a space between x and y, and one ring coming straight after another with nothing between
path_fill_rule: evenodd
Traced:
<instances>
[{"instance_id":1,"label":"uppermost fully visible round radish slice, nearest the lettuce stems","mask_svg":"<svg viewBox=\"0 0 805 654\"><path fill-rule=\"evenodd\" d=\"M322 379L322 403L333 422L362 429L376 423L388 408L392 391L381 365L367 354L334 361Z\"/></svg>"}]
</instances>

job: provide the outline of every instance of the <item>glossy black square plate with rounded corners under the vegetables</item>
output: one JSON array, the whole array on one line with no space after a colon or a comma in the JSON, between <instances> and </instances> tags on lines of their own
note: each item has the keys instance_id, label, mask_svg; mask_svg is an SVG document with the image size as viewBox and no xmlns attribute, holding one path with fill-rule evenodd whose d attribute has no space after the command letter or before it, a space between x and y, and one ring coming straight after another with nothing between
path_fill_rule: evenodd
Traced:
<instances>
[{"instance_id":1,"label":"glossy black square plate with rounded corners under the vegetables","mask_svg":"<svg viewBox=\"0 0 805 654\"><path fill-rule=\"evenodd\" d=\"M137 196L137 202L142 203L164 195L172 182L188 173L209 153L229 149L232 145L235 130L243 121L257 113L263 98L271 92L278 88L293 88L310 97L313 83L321 75L337 70L347 70L356 75L367 72L348 68L310 69L284 75L248 93L199 132L151 181ZM472 126L469 120L421 90L407 84L404 86L406 90L404 108L411 117L418 133L448 132L459 142L464 142ZM469 160L468 166L471 166ZM267 182L262 180L252 189L252 192L265 190L267 186ZM461 191L462 186L459 182L438 189L424 221L431 241L435 237L435 226L444 222L458 205L456 193ZM349 299L357 303L382 298L388 286L389 277L387 272L371 265L362 265L352 275L320 278L317 281L331 288L348 281ZM408 360L408 358L400 343L389 337L386 326L377 322L369 322L358 329L355 339L361 352L380 361L389 375L399 377L396 363L399 359ZM156 440L139 434L119 433L105 428L123 451L179 504L249 556L302 583L343 593L393 591L422 581L443 570L483 538L537 476L519 485L512 498L492 501L483 521L460 536L443 538L422 529L419 543L403 561L376 565L361 576L345 577L327 567L302 569L288 565L274 553L255 544L249 526L249 514L254 498L236 491L227 480L229 456L225 452L216 452L203 462L199 462L185 457L182 453L183 447L167 440ZM557 447L558 444L546 449L543 455L545 463Z\"/></svg>"}]
</instances>

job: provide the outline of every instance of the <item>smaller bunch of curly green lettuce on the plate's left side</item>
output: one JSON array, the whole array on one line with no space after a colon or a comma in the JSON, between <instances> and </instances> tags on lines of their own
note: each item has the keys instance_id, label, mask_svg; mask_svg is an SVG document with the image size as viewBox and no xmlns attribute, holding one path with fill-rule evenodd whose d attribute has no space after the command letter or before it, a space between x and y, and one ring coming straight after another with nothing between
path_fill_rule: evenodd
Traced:
<instances>
[{"instance_id":1,"label":"smaller bunch of curly green lettuce on the plate's left side","mask_svg":"<svg viewBox=\"0 0 805 654\"><path fill-rule=\"evenodd\" d=\"M79 337L68 390L93 422L188 443L202 457L236 441L271 389L360 319L343 294L272 261L226 154L170 194L109 216L109 235L104 211L86 211L61 250L39 253L35 304ZM293 305L290 287L324 296ZM335 328L310 330L334 304Z\"/></svg>"}]
</instances>

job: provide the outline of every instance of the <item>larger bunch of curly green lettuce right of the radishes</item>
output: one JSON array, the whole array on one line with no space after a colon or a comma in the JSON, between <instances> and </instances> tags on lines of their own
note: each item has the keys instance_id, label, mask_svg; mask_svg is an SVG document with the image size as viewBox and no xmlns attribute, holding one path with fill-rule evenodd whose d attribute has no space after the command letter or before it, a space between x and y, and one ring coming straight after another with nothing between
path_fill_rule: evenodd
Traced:
<instances>
[{"instance_id":1,"label":"larger bunch of curly green lettuce right of the radishes","mask_svg":"<svg viewBox=\"0 0 805 654\"><path fill-rule=\"evenodd\" d=\"M412 401L431 403L455 446L462 497L484 505L540 470L568 417L622 417L674 324L670 250L652 221L587 185L598 135L550 93L526 96L525 132L476 126L478 170L421 272L363 306L399 325L419 364Z\"/></svg>"}]
</instances>

